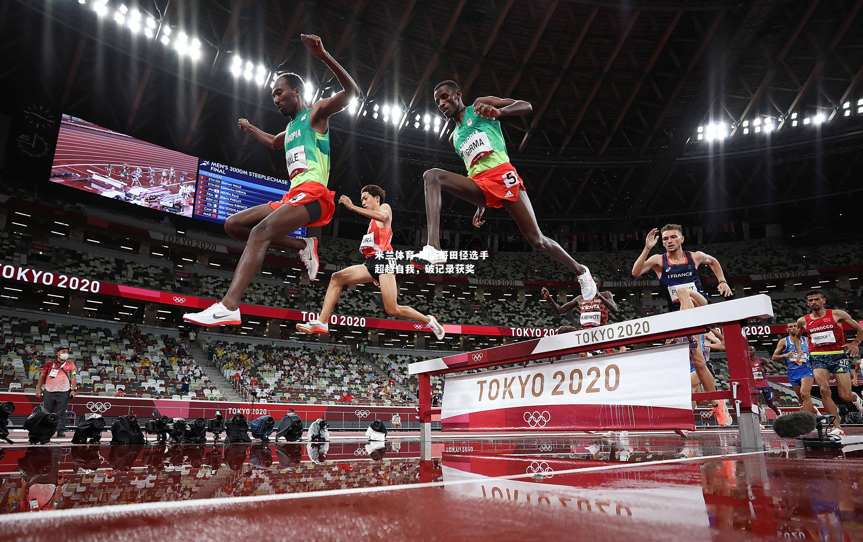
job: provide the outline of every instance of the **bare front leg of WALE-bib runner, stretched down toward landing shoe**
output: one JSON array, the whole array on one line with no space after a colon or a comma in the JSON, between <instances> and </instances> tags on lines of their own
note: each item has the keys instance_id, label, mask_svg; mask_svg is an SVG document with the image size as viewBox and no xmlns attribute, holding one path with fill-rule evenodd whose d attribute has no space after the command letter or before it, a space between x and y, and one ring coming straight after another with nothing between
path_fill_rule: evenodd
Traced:
<instances>
[{"instance_id":1,"label":"bare front leg of WALE-bib runner, stretched down toward landing shoe","mask_svg":"<svg viewBox=\"0 0 863 542\"><path fill-rule=\"evenodd\" d=\"M252 228L246 248L243 250L243 256L240 257L240 262L236 265L234 278L230 281L228 293L225 294L222 300L224 308L234 311L240 306L243 294L249 288L249 284L255 278L255 275L258 274L258 271L261 271L264 256L267 254L267 249L273 240L288 240L292 245L294 245L295 241L295 246L290 246L290 248L297 251L306 247L304 240L289 240L285 236L298 227L305 226L309 223L309 220L309 212L306 210L305 205L298 207L282 205Z\"/></svg>"}]
</instances>

